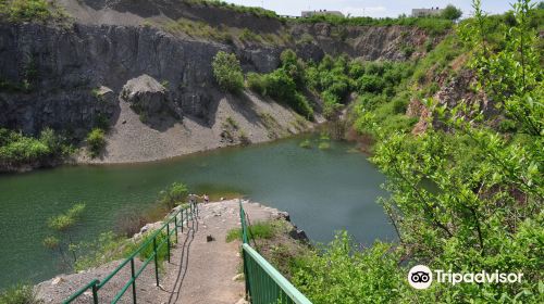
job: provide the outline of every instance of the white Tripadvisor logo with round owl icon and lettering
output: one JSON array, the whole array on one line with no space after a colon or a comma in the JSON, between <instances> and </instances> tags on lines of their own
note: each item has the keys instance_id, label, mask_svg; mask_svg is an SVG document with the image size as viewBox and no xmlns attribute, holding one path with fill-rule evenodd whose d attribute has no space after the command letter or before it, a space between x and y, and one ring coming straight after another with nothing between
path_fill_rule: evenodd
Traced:
<instances>
[{"instance_id":1,"label":"white Tripadvisor logo with round owl icon and lettering","mask_svg":"<svg viewBox=\"0 0 544 304\"><path fill-rule=\"evenodd\" d=\"M452 273L436 269L433 271L425 265L411 267L408 273L408 283L415 289L428 289L433 282L433 278L438 283L520 283L523 274L487 273Z\"/></svg>"}]
</instances>

